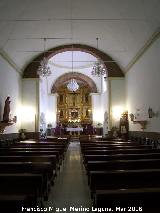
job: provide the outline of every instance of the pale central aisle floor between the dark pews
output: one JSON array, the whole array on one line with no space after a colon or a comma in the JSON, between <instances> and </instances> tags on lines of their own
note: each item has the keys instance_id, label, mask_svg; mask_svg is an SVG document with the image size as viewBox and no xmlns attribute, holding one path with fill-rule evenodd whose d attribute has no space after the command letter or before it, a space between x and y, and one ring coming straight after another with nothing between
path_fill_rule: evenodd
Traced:
<instances>
[{"instance_id":1,"label":"pale central aisle floor between the dark pews","mask_svg":"<svg viewBox=\"0 0 160 213\"><path fill-rule=\"evenodd\" d=\"M49 204L61 209L92 206L79 142L71 142L68 147L66 159L49 196Z\"/></svg>"}]
</instances>

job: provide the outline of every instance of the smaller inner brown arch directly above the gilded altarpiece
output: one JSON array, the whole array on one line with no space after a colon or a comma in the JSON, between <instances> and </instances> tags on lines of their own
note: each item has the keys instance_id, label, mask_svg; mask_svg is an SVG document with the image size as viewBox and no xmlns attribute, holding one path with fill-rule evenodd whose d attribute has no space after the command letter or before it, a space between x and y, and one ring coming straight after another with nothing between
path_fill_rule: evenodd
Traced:
<instances>
[{"instance_id":1,"label":"smaller inner brown arch directly above the gilded altarpiece","mask_svg":"<svg viewBox=\"0 0 160 213\"><path fill-rule=\"evenodd\" d=\"M51 93L56 93L59 88L59 85L63 85L65 82L69 81L72 78L82 81L90 89L90 92L97 93L97 86L95 82L87 75L84 75L79 72L65 73L58 77L52 85Z\"/></svg>"}]
</instances>

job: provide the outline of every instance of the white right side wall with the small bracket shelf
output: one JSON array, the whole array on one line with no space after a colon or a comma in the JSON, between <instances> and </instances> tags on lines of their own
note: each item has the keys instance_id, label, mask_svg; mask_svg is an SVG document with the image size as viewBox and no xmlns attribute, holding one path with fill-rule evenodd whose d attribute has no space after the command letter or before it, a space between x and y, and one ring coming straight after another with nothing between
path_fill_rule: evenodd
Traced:
<instances>
[{"instance_id":1,"label":"white right side wall with the small bracket shelf","mask_svg":"<svg viewBox=\"0 0 160 213\"><path fill-rule=\"evenodd\" d=\"M160 132L160 38L144 53L126 74L127 107L129 113L139 111L140 119L148 120L144 131ZM149 119L148 108L157 116ZM131 131L141 131L139 124L130 122Z\"/></svg>"}]
</instances>

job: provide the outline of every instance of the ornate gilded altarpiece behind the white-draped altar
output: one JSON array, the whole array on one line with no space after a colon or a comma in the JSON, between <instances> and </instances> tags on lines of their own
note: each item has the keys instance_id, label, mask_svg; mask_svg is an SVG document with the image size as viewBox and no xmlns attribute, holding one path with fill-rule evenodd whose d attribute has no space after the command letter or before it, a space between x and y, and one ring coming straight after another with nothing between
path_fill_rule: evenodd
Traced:
<instances>
[{"instance_id":1,"label":"ornate gilded altarpiece behind the white-draped altar","mask_svg":"<svg viewBox=\"0 0 160 213\"><path fill-rule=\"evenodd\" d=\"M71 92L62 86L57 97L57 122L92 123L92 101L87 87L80 87L76 92Z\"/></svg>"}]
</instances>

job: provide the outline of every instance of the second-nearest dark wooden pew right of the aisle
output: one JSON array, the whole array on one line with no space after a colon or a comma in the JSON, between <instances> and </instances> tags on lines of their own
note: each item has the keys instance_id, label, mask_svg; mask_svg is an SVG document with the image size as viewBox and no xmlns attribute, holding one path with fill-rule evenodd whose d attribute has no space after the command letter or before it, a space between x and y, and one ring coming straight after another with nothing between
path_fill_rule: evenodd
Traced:
<instances>
[{"instance_id":1,"label":"second-nearest dark wooden pew right of the aisle","mask_svg":"<svg viewBox=\"0 0 160 213\"><path fill-rule=\"evenodd\" d=\"M90 171L90 190L160 187L159 180L160 169Z\"/></svg>"}]
</instances>

